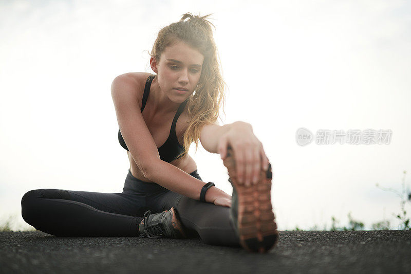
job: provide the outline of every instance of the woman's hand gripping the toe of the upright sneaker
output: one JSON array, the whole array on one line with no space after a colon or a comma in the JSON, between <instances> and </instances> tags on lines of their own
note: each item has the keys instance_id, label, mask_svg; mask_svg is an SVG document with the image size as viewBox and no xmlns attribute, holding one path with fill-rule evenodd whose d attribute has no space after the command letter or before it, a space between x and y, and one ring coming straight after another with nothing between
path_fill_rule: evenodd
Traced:
<instances>
[{"instance_id":1,"label":"woman's hand gripping the toe of the upright sneaker","mask_svg":"<svg viewBox=\"0 0 411 274\"><path fill-rule=\"evenodd\" d=\"M267 171L269 161L263 144L253 133L251 124L240 121L232 123L231 129L218 141L218 153L221 159L227 157L229 145L234 153L238 180L245 182L246 186L255 184L259 179L261 168Z\"/></svg>"}]
</instances>

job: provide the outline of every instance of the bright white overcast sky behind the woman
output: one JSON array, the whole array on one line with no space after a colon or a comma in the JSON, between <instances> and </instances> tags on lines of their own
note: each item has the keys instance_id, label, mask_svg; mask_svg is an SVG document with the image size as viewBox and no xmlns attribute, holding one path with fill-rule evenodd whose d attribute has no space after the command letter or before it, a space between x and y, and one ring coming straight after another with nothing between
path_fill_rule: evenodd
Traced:
<instances>
[{"instance_id":1,"label":"bright white overcast sky behind the woman","mask_svg":"<svg viewBox=\"0 0 411 274\"><path fill-rule=\"evenodd\" d=\"M411 5L405 1L0 2L0 216L31 189L122 192L129 168L110 95L125 72L152 72L158 31L214 13L229 90L223 123L253 125L273 165L280 230L367 228L399 212L411 172ZM295 132L390 129L390 144L311 143ZM219 155L190 155L231 194ZM408 174L406 184L411 185Z\"/></svg>"}]
</instances>

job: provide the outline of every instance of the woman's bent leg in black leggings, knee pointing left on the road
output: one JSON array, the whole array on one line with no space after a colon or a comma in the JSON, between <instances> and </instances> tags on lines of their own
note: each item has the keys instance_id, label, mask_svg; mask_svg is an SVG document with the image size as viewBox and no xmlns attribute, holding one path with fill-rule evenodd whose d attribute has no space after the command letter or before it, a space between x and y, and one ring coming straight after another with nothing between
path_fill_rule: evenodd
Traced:
<instances>
[{"instance_id":1,"label":"woman's bent leg in black leggings, knee pointing left on the road","mask_svg":"<svg viewBox=\"0 0 411 274\"><path fill-rule=\"evenodd\" d=\"M22 198L22 216L55 236L138 236L145 199L123 193L36 189Z\"/></svg>"}]
</instances>

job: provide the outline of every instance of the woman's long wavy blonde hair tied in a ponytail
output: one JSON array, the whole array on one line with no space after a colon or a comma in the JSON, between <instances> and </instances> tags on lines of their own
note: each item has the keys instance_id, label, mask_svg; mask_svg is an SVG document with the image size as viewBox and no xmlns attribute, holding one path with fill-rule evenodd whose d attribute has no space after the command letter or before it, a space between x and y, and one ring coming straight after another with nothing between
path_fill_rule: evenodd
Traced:
<instances>
[{"instance_id":1,"label":"woman's long wavy blonde hair tied in a ponytail","mask_svg":"<svg viewBox=\"0 0 411 274\"><path fill-rule=\"evenodd\" d=\"M221 76L220 59L213 38L211 26L215 26L206 18L211 14L200 17L190 12L182 15L180 21L162 28L154 42L150 56L157 61L167 46L177 41L182 41L197 49L204 56L200 80L194 93L187 101L190 123L183 135L184 152L178 157L183 157L194 141L196 151L201 129L204 125L214 123L219 115L219 109L226 101L226 83ZM185 21L185 19L188 19ZM220 117L221 119L221 117Z\"/></svg>"}]
</instances>

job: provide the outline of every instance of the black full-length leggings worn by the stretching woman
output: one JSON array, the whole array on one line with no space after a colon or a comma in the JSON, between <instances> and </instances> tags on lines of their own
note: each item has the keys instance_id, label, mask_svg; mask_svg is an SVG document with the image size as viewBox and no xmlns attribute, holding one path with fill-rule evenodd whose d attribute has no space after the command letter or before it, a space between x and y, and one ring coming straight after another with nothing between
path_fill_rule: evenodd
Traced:
<instances>
[{"instance_id":1,"label":"black full-length leggings worn by the stretching woman","mask_svg":"<svg viewBox=\"0 0 411 274\"><path fill-rule=\"evenodd\" d=\"M190 173L200 179L197 170ZM181 223L204 243L239 247L229 208L203 203L134 177L130 170L122 193L62 189L30 190L22 198L24 220L55 236L138 236L144 212L178 212Z\"/></svg>"}]
</instances>

